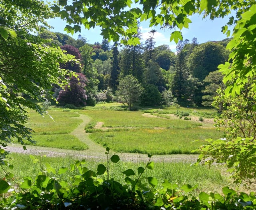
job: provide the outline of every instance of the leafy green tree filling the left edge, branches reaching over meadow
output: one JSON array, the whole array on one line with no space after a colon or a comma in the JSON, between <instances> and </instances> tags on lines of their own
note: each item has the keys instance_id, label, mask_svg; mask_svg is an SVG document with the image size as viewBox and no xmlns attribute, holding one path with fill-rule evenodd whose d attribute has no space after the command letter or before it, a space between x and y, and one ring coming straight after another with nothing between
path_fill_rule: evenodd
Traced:
<instances>
[{"instance_id":1,"label":"leafy green tree filling the left edge, branches reaching over meadow","mask_svg":"<svg viewBox=\"0 0 256 210\"><path fill-rule=\"evenodd\" d=\"M24 145L32 141L27 127L27 108L40 114L45 111L30 99L44 102L52 98L52 85L64 87L66 75L59 63L71 62L74 56L35 36L48 28L54 14L42 1L0 0L0 150L13 138ZM24 149L26 149L24 145ZM0 157L2 160L2 157Z\"/></svg>"}]
</instances>

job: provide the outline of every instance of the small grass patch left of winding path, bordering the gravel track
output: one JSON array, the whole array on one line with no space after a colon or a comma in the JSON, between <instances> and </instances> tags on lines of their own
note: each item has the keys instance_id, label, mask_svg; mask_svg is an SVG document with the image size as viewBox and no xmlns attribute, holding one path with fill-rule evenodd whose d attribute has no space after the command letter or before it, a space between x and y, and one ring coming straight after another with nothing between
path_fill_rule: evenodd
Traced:
<instances>
[{"instance_id":1,"label":"small grass patch left of winding path, bordering the gravel track","mask_svg":"<svg viewBox=\"0 0 256 210\"><path fill-rule=\"evenodd\" d=\"M36 146L45 146L60 149L86 150L88 146L82 143L78 138L70 134L58 135L34 135ZM34 145L31 142L25 142L27 145Z\"/></svg>"}]
</instances>

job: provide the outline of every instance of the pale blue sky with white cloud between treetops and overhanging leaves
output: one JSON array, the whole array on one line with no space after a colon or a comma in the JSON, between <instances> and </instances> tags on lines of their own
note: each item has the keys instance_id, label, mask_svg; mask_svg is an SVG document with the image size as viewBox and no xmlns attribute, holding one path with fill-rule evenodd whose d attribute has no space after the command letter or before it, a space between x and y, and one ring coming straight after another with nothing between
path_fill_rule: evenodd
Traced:
<instances>
[{"instance_id":1,"label":"pale blue sky with white cloud between treetops and overhanging leaves","mask_svg":"<svg viewBox=\"0 0 256 210\"><path fill-rule=\"evenodd\" d=\"M207 42L207 41L220 41L223 40L226 37L226 34L223 34L221 32L221 27L224 26L228 22L228 17L222 19L218 18L215 20L209 20L209 19L202 19L202 16L199 16L198 14L195 14L191 16L190 18L192 20L192 23L189 24L189 28L182 29L182 35L183 39L192 40L192 38L197 38L199 44ZM48 20L48 23L54 27L52 29L53 32L61 32L66 34L64 32L64 28L66 26L66 22L61 20L60 18L56 19L50 19ZM155 29L157 32L154 35L154 41L156 42L156 47L167 44L170 46L170 49L172 51L175 51L176 49L176 43L170 42L170 34L173 32L173 30L165 29L162 30L159 27L153 27L149 28L147 22L141 22L141 32L142 32L142 39L145 41L147 38L149 38L149 32L152 29ZM81 26L81 33L76 33L72 36L72 34L68 34L69 36L72 36L73 38L77 38L79 34L86 37L88 40L88 43L94 44L95 42L102 42L103 37L100 35L101 31L99 27L91 28L90 30L87 30L84 28L84 26Z\"/></svg>"}]
</instances>

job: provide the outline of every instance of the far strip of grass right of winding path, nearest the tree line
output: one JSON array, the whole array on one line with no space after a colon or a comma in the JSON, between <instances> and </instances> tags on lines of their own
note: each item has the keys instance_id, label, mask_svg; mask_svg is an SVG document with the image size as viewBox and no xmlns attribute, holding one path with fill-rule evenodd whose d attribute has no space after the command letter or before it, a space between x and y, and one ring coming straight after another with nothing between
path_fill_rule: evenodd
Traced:
<instances>
[{"instance_id":1,"label":"far strip of grass right of winding path, nearest the tree line","mask_svg":"<svg viewBox=\"0 0 256 210\"><path fill-rule=\"evenodd\" d=\"M179 119L149 118L142 116L143 112L120 112L113 110L83 110L81 113L90 116L94 121L104 122L104 127L140 127L140 128L195 128L200 122Z\"/></svg>"}]
</instances>

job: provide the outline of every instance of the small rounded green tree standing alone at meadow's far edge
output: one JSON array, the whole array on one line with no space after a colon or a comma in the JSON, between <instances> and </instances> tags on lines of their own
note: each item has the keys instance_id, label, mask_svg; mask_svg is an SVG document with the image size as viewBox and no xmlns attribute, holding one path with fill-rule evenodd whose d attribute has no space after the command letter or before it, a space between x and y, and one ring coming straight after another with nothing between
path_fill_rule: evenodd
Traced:
<instances>
[{"instance_id":1,"label":"small rounded green tree standing alone at meadow's far edge","mask_svg":"<svg viewBox=\"0 0 256 210\"><path fill-rule=\"evenodd\" d=\"M120 79L116 95L122 102L128 104L129 110L132 110L132 106L140 104L143 91L144 88L139 81L134 76L127 75Z\"/></svg>"}]
</instances>

